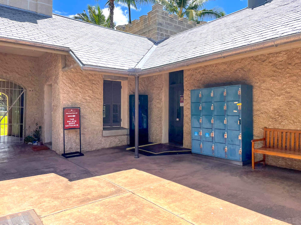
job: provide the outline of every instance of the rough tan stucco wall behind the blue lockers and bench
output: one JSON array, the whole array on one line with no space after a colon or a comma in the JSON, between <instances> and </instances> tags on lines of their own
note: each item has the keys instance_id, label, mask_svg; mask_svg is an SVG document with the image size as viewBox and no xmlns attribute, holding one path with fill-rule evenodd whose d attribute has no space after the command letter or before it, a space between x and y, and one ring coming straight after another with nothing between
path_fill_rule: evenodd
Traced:
<instances>
[{"instance_id":1,"label":"rough tan stucco wall behind the blue lockers and bench","mask_svg":"<svg viewBox=\"0 0 301 225\"><path fill-rule=\"evenodd\" d=\"M263 137L264 127L301 130L300 68L298 48L184 70L184 147L191 148L190 90L196 88L253 85L254 138ZM301 160L267 156L267 163L301 170Z\"/></svg>"}]
</instances>

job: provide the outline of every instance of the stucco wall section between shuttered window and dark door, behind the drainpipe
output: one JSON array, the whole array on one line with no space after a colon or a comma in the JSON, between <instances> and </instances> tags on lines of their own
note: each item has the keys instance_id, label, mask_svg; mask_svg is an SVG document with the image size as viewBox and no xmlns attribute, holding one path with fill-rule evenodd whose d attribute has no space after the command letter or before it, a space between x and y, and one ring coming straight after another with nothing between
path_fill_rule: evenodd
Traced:
<instances>
[{"instance_id":1,"label":"stucco wall section between shuttered window and dark door, behind the drainpipe","mask_svg":"<svg viewBox=\"0 0 301 225\"><path fill-rule=\"evenodd\" d=\"M129 78L129 95L135 94L135 78ZM148 95L148 139L162 141L163 75L139 78L139 94Z\"/></svg>"}]
</instances>

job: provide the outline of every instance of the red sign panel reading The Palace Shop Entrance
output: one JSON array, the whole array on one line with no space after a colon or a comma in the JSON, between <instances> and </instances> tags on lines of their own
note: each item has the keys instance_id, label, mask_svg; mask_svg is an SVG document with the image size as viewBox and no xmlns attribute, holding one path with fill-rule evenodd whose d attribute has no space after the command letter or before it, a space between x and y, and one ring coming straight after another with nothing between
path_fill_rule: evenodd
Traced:
<instances>
[{"instance_id":1,"label":"red sign panel reading The Palace Shop Entrance","mask_svg":"<svg viewBox=\"0 0 301 225\"><path fill-rule=\"evenodd\" d=\"M64 108L64 130L80 128L79 108Z\"/></svg>"}]
</instances>

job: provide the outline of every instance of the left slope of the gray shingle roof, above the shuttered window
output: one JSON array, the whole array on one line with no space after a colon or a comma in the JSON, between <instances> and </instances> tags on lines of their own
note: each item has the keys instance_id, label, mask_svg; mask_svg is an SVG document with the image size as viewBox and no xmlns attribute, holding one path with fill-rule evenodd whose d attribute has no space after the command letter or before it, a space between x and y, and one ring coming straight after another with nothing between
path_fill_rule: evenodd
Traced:
<instances>
[{"instance_id":1,"label":"left slope of the gray shingle roof, above the shuttered window","mask_svg":"<svg viewBox=\"0 0 301 225\"><path fill-rule=\"evenodd\" d=\"M0 37L70 48L86 65L128 69L153 46L148 38L53 14L0 6Z\"/></svg>"}]
</instances>

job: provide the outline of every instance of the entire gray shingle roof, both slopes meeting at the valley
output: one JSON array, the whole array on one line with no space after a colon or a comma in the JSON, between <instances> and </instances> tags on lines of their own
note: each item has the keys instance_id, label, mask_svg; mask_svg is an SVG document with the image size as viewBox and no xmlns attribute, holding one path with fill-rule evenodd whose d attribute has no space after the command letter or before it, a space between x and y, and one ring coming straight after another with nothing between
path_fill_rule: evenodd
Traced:
<instances>
[{"instance_id":1,"label":"entire gray shingle roof, both slopes meeting at the valley","mask_svg":"<svg viewBox=\"0 0 301 225\"><path fill-rule=\"evenodd\" d=\"M301 33L300 5L301 0L272 0L173 35L155 45L138 35L56 14L49 18L0 5L0 38L67 47L85 65L150 69Z\"/></svg>"}]
</instances>

